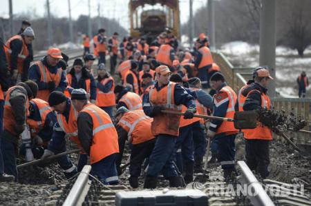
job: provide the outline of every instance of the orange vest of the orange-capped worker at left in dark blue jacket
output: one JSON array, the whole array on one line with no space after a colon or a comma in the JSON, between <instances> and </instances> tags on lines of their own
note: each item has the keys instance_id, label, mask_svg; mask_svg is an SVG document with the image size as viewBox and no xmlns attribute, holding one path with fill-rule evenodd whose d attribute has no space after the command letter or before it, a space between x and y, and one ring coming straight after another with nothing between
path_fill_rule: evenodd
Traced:
<instances>
[{"instance_id":1,"label":"orange vest of the orange-capped worker at left in dark blue jacket","mask_svg":"<svg viewBox=\"0 0 311 206\"><path fill-rule=\"evenodd\" d=\"M46 65L42 63L42 61L36 61L35 64L39 67L40 72L40 81L48 83L49 81L55 82L55 87L57 87L62 78L62 68L57 68L56 74L52 74ZM50 95L49 90L38 90L37 98L43 99L44 101L48 101L48 96Z\"/></svg>"}]
</instances>

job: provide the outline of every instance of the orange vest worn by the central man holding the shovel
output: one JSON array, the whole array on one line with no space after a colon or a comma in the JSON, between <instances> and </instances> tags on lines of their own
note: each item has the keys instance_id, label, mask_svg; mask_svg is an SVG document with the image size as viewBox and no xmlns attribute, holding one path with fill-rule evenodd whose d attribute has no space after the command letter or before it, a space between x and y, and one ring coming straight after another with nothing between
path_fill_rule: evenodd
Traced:
<instances>
[{"instance_id":1,"label":"orange vest worn by the central man holding the shovel","mask_svg":"<svg viewBox=\"0 0 311 206\"><path fill-rule=\"evenodd\" d=\"M180 112L181 105L176 105L174 100L176 83L169 82L158 91L155 87L149 90L149 103L146 106L163 106L165 110ZM180 116L175 114L161 113L153 118L151 131L154 136L158 134L179 135Z\"/></svg>"}]
</instances>

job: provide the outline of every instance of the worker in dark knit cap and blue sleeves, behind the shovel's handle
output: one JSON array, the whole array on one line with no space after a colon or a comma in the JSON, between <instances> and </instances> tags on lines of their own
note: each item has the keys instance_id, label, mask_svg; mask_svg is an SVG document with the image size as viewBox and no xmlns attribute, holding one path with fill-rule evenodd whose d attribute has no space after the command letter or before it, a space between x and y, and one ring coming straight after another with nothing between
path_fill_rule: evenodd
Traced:
<instances>
[{"instance_id":1,"label":"worker in dark knit cap and blue sleeves, behind the shovel's handle","mask_svg":"<svg viewBox=\"0 0 311 206\"><path fill-rule=\"evenodd\" d=\"M210 115L213 110L213 98L202 90L202 83L198 77L193 77L188 80L191 90L196 92L196 108L198 114ZM199 124L194 124L193 137L194 137L194 172L202 172L202 162L206 151L206 138L205 138L205 119L200 119Z\"/></svg>"}]
</instances>

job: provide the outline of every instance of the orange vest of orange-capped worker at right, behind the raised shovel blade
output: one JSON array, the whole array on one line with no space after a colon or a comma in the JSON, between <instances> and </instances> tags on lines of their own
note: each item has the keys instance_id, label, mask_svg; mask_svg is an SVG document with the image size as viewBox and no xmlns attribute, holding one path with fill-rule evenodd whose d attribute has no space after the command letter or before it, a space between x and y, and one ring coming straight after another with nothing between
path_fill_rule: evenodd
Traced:
<instances>
[{"instance_id":1,"label":"orange vest of orange-capped worker at right, behind the raised shovel blade","mask_svg":"<svg viewBox=\"0 0 311 206\"><path fill-rule=\"evenodd\" d=\"M249 91L247 96L252 91ZM258 90L255 90L255 91L259 92ZM261 92L259 92L259 93L261 93ZM246 98L247 98L247 96L246 96ZM267 108L267 110L270 110L270 108L271 108L270 98L269 98L269 96L267 96L267 94L265 94L263 92L261 94L261 107ZM244 138L246 138L246 139L272 140L272 132L269 129L269 127L267 127L267 126L265 126L259 122L257 122L257 127L255 129L245 129L245 130L243 130L243 133L244 133Z\"/></svg>"}]
</instances>

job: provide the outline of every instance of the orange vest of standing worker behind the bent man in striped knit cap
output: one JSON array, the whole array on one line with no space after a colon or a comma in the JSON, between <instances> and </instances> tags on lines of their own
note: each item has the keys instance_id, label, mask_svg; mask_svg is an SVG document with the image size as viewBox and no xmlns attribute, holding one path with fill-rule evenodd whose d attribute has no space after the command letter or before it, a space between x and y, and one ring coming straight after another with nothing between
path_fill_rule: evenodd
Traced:
<instances>
[{"instance_id":1,"label":"orange vest of standing worker behind the bent man in striped knit cap","mask_svg":"<svg viewBox=\"0 0 311 206\"><path fill-rule=\"evenodd\" d=\"M96 105L97 107L110 107L115 105L115 93L113 92L115 90L115 81L113 80L112 76L109 76L108 78L102 79L100 83L102 85L106 85L109 81L112 81L113 85L111 87L111 90L107 93L102 92L99 88L97 88L97 96L96 96Z\"/></svg>"}]
</instances>

